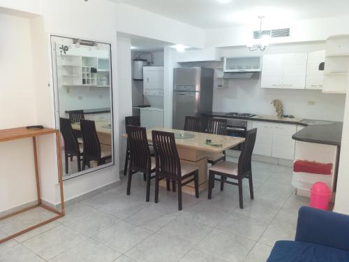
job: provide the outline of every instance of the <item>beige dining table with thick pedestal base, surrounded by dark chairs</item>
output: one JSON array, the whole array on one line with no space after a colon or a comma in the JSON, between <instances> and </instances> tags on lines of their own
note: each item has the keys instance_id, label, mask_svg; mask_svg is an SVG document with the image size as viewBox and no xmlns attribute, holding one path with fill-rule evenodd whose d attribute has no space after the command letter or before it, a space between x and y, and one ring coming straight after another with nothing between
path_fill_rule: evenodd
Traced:
<instances>
[{"instance_id":1,"label":"beige dining table with thick pedestal base, surrounded by dark chairs","mask_svg":"<svg viewBox=\"0 0 349 262\"><path fill-rule=\"evenodd\" d=\"M151 131L166 131L172 132L178 137L180 130L177 129L167 129L167 128L154 128L147 129L147 139L149 143L152 142ZM191 163L199 168L199 190L202 191L207 189L207 158L212 154L221 154L223 151L228 150L236 145L244 143L245 138L238 138L232 136L221 136L214 135L211 133L200 133L184 131L185 134L191 134L193 138L175 138L179 158L181 161L186 163ZM127 138L126 134L123 134ZM185 137L185 136L184 136ZM207 145L206 140L211 140L211 144L219 145ZM161 186L165 187L165 181L161 181ZM183 187L182 191L188 194L195 194L194 182L191 182Z\"/></svg>"}]
</instances>

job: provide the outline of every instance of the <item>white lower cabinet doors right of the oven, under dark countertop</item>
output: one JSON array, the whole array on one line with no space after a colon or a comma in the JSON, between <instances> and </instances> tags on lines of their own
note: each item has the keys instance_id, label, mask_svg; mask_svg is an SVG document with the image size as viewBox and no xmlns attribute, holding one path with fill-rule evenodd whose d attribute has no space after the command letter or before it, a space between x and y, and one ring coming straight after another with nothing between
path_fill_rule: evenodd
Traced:
<instances>
[{"instance_id":1,"label":"white lower cabinet doors right of the oven, under dark countertop","mask_svg":"<svg viewBox=\"0 0 349 262\"><path fill-rule=\"evenodd\" d=\"M296 133L297 125L253 121L252 126L257 128L253 154L293 160L295 140L292 135Z\"/></svg>"}]
</instances>

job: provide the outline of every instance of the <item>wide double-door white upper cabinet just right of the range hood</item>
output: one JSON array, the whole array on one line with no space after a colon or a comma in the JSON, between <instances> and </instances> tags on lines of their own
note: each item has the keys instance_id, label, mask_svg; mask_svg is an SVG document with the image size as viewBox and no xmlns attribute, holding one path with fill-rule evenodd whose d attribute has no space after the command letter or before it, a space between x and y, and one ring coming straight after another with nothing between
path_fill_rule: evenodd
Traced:
<instances>
[{"instance_id":1,"label":"wide double-door white upper cabinet just right of the range hood","mask_svg":"<svg viewBox=\"0 0 349 262\"><path fill-rule=\"evenodd\" d=\"M307 53L265 54L262 88L304 89Z\"/></svg>"}]
</instances>

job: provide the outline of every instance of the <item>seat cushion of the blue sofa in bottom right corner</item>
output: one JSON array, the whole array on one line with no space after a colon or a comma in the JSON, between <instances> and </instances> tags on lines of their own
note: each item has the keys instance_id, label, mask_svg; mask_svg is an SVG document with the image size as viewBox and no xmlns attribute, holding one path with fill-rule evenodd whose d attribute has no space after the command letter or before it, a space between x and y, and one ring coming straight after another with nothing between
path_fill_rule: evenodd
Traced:
<instances>
[{"instance_id":1,"label":"seat cushion of the blue sofa in bottom right corner","mask_svg":"<svg viewBox=\"0 0 349 262\"><path fill-rule=\"evenodd\" d=\"M277 241L267 262L344 262L349 252L309 242Z\"/></svg>"}]
</instances>

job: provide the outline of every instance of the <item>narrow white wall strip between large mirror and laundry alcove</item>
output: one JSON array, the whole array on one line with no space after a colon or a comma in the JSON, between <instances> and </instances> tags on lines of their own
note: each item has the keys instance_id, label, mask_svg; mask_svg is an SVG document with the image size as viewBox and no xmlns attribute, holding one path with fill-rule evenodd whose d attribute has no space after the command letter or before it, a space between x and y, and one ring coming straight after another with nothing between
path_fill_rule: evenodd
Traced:
<instances>
[{"instance_id":1,"label":"narrow white wall strip between large mirror and laundry alcove","mask_svg":"<svg viewBox=\"0 0 349 262\"><path fill-rule=\"evenodd\" d=\"M131 39L117 37L117 79L119 89L119 133L125 133L125 117L132 115ZM119 137L119 169L124 169L126 139Z\"/></svg>"}]
</instances>

